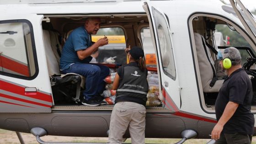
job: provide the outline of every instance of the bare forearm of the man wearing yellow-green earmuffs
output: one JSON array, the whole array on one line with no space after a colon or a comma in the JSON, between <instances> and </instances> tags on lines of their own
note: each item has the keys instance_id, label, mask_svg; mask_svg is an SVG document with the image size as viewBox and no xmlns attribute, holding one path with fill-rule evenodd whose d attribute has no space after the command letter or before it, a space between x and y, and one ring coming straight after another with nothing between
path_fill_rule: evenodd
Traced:
<instances>
[{"instance_id":1,"label":"bare forearm of the man wearing yellow-green earmuffs","mask_svg":"<svg viewBox=\"0 0 256 144\"><path fill-rule=\"evenodd\" d=\"M239 106L238 103L229 101L224 109L222 116L218 121L218 124L224 126L229 121L229 119L234 115L238 106Z\"/></svg>"}]
</instances>

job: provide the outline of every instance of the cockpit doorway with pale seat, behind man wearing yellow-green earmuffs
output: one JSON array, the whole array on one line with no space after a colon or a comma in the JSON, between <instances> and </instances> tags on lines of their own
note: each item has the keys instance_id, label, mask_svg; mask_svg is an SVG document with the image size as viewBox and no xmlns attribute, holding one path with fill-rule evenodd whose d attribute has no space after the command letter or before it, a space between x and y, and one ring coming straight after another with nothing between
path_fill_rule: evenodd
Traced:
<instances>
[{"instance_id":1,"label":"cockpit doorway with pale seat, behind man wearing yellow-green earmuffs","mask_svg":"<svg viewBox=\"0 0 256 144\"><path fill-rule=\"evenodd\" d=\"M197 69L199 96L202 107L214 112L214 105L219 89L227 76L217 59L218 51L235 47L241 54L241 65L245 68L253 85L251 110L256 110L256 64L250 61L255 58L254 43L242 28L222 16L195 14L189 20L192 39L194 63ZM219 37L219 35L221 37Z\"/></svg>"}]
</instances>

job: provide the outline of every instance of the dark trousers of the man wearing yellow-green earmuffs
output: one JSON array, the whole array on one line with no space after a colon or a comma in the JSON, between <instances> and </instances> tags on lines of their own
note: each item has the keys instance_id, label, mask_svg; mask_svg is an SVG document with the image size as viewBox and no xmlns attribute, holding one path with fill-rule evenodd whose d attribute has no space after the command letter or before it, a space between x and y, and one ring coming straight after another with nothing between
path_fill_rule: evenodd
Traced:
<instances>
[{"instance_id":1,"label":"dark trousers of the man wearing yellow-green earmuffs","mask_svg":"<svg viewBox=\"0 0 256 144\"><path fill-rule=\"evenodd\" d=\"M215 144L251 144L252 135L240 133L220 134Z\"/></svg>"}]
</instances>

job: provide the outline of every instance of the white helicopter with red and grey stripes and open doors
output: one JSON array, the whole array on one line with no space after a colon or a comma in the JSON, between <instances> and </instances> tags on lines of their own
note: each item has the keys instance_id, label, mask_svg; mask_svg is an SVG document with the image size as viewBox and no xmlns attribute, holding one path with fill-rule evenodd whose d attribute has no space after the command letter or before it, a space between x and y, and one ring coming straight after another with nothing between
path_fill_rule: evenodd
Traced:
<instances>
[{"instance_id":1,"label":"white helicopter with red and grey stripes and open doors","mask_svg":"<svg viewBox=\"0 0 256 144\"><path fill-rule=\"evenodd\" d=\"M86 78L60 75L59 71L61 47L88 17L101 18L103 33L118 29L124 37L124 45L99 48L109 53L104 57L117 56L118 63L104 64L110 69L126 63L126 55L117 53L129 45L149 52L148 71L157 75L160 105L151 102L146 106L146 138L183 139L184 133L190 135L186 139L210 138L217 123L214 104L224 81L216 51L227 47L240 50L253 85L251 112L255 115L256 22L240 0L230 3L232 6L218 0L1 1L0 11L5 15L0 16L0 128L33 133L41 144L43 135L107 137L113 105L81 105ZM150 44L144 41L145 29ZM215 30L229 30L244 43L216 44ZM128 137L127 131L124 138Z\"/></svg>"}]
</instances>

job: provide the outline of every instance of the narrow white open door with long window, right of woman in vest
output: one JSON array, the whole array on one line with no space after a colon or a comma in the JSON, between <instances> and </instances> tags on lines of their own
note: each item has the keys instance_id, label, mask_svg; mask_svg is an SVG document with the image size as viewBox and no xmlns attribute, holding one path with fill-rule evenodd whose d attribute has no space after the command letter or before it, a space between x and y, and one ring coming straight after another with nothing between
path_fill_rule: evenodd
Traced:
<instances>
[{"instance_id":1,"label":"narrow white open door with long window, right of woman in vest","mask_svg":"<svg viewBox=\"0 0 256 144\"><path fill-rule=\"evenodd\" d=\"M165 14L169 14L168 1L148 1L143 5L149 17L149 27L152 42L158 59L157 69L160 79L160 96L163 96L163 107L172 112L181 107L180 87L176 73L175 55L171 44L169 21Z\"/></svg>"}]
</instances>

